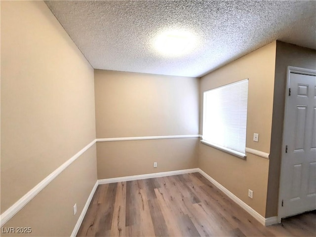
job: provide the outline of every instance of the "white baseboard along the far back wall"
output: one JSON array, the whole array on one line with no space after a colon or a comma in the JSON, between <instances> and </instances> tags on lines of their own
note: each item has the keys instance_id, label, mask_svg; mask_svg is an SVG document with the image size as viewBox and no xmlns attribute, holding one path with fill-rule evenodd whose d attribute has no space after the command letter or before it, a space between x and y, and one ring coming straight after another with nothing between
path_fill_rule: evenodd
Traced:
<instances>
[{"instance_id":1,"label":"white baseboard along the far back wall","mask_svg":"<svg viewBox=\"0 0 316 237\"><path fill-rule=\"evenodd\" d=\"M158 178L158 177L171 176L171 175L177 175L177 174L187 174L187 173L194 173L194 172L198 172L198 168L182 169L182 170L167 171L167 172L152 173L152 174L132 175L132 176L125 176L125 177L111 178L111 179L99 179L98 181L99 181L99 184L110 184L110 183L132 181L132 180L139 180L139 179Z\"/></svg>"}]
</instances>

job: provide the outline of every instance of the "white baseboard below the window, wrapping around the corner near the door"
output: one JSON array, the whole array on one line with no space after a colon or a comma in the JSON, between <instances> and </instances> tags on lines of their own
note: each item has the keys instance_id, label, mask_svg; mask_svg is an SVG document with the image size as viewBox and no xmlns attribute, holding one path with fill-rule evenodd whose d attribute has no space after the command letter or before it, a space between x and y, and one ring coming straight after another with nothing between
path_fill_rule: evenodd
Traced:
<instances>
[{"instance_id":1,"label":"white baseboard below the window, wrapping around the corner near the door","mask_svg":"<svg viewBox=\"0 0 316 237\"><path fill-rule=\"evenodd\" d=\"M268 226L268 225L273 225L273 224L278 223L276 216L264 218L257 211L252 209L249 205L247 205L245 202L243 202L241 199L239 199L237 196L235 196L232 192L230 192L228 189L226 189L223 185L221 185L215 179L213 179L208 174L206 174L203 170L201 170L200 168L197 168L197 169L201 175L203 175L206 179L208 179L212 184L214 184L218 189L220 189L229 198L231 198L233 201L235 201L239 206L241 206L245 211L247 211L250 215L252 215L262 225Z\"/></svg>"}]
</instances>

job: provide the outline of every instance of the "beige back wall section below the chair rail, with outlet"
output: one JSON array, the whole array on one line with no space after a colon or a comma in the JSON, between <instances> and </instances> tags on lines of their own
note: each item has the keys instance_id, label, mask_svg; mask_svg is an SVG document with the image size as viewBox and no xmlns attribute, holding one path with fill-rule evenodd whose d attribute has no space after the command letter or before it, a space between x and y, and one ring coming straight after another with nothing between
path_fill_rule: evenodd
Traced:
<instances>
[{"instance_id":1,"label":"beige back wall section below the chair rail, with outlet","mask_svg":"<svg viewBox=\"0 0 316 237\"><path fill-rule=\"evenodd\" d=\"M197 168L197 138L98 142L98 179ZM154 168L154 162L158 162Z\"/></svg>"}]
</instances>

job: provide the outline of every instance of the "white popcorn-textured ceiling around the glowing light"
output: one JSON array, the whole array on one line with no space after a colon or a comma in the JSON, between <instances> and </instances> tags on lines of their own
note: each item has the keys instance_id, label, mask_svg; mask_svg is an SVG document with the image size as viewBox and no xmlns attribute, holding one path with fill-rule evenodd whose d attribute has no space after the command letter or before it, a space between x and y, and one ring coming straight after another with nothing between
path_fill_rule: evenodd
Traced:
<instances>
[{"instance_id":1,"label":"white popcorn-textured ceiling around the glowing light","mask_svg":"<svg viewBox=\"0 0 316 237\"><path fill-rule=\"evenodd\" d=\"M316 49L316 1L45 1L95 69L200 77L273 40ZM193 32L181 57L153 46L168 29Z\"/></svg>"}]
</instances>

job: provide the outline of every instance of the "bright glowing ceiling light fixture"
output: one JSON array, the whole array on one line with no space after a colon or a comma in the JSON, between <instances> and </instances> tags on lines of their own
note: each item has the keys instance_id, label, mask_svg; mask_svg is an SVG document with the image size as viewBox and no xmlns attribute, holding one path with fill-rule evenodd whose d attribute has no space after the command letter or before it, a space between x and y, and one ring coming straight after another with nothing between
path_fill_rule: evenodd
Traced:
<instances>
[{"instance_id":1,"label":"bright glowing ceiling light fixture","mask_svg":"<svg viewBox=\"0 0 316 237\"><path fill-rule=\"evenodd\" d=\"M191 52L196 46L196 37L189 31L172 30L159 34L155 48L163 55L180 56Z\"/></svg>"}]
</instances>

